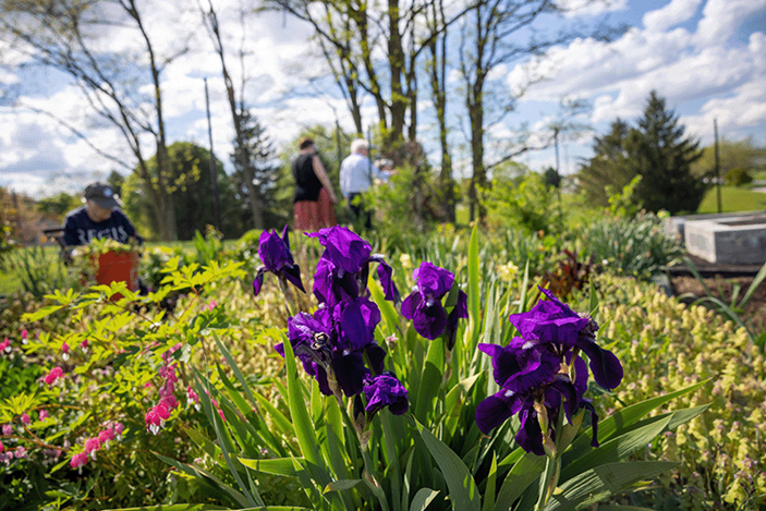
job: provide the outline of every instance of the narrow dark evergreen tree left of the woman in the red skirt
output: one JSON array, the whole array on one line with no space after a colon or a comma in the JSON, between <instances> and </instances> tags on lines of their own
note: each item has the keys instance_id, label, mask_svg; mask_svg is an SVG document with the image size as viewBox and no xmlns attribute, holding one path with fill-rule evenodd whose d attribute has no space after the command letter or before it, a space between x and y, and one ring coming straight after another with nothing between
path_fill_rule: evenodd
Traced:
<instances>
[{"instance_id":1,"label":"narrow dark evergreen tree left of the woman in the red skirt","mask_svg":"<svg viewBox=\"0 0 766 511\"><path fill-rule=\"evenodd\" d=\"M236 195L241 205L241 218L245 224L252 222L251 194L247 177L252 175L256 199L260 204L264 226L267 229L281 228L287 222L289 209L279 199L277 193L281 162L277 158L266 129L247 110L241 110L243 126L243 144L238 146L234 141L234 153L231 161L234 165L233 180L236 184ZM246 168L245 168L246 166ZM254 228L255 226L250 226Z\"/></svg>"}]
</instances>

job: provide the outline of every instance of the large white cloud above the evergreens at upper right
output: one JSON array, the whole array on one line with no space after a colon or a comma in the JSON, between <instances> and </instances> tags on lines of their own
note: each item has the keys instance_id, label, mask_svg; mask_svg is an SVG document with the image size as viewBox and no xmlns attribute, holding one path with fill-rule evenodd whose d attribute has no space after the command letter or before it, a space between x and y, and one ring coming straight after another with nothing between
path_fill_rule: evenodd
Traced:
<instances>
[{"instance_id":1,"label":"large white cloud above the evergreens at upper right","mask_svg":"<svg viewBox=\"0 0 766 511\"><path fill-rule=\"evenodd\" d=\"M533 86L523 100L584 94L593 100L591 120L601 123L637 117L649 92L657 89L672 109L705 100L701 113L682 118L690 133L709 132L714 110L719 125L734 132L765 123L766 36L752 34L747 46L725 42L766 0L708 0L694 33L671 28L689 20L698 3L673 0L646 13L644 29L632 28L612 42L577 39L555 48L536 69L549 80ZM522 83L525 72L515 66L509 87Z\"/></svg>"}]
</instances>

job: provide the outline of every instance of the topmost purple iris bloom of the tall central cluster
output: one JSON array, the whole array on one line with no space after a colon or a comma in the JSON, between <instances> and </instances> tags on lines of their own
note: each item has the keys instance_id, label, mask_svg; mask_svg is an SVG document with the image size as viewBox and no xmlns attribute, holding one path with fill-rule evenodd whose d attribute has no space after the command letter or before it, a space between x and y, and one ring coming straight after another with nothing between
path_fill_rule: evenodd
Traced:
<instances>
[{"instance_id":1,"label":"topmost purple iris bloom of the tall central cluster","mask_svg":"<svg viewBox=\"0 0 766 511\"><path fill-rule=\"evenodd\" d=\"M369 264L377 263L378 279L385 299L398 302L399 290L391 279L391 267L381 255L373 254L372 245L351 230L335 226L308 234L318 238L325 252L314 276L314 295L320 303L333 305L340 301L366 295Z\"/></svg>"}]
</instances>

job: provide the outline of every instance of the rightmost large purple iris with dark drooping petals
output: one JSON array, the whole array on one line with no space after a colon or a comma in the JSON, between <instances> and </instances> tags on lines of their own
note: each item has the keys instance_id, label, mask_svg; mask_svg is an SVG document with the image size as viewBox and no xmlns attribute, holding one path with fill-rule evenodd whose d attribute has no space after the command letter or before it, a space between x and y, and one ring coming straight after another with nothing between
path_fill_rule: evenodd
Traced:
<instances>
[{"instance_id":1,"label":"rightmost large purple iris with dark drooping petals","mask_svg":"<svg viewBox=\"0 0 766 511\"><path fill-rule=\"evenodd\" d=\"M611 352L596 345L598 325L593 319L579 316L550 292L543 292L549 301L510 317L522 337L513 338L504 348L478 345L493 358L493 376L500 391L478 404L476 424L488 435L518 415L521 427L516 442L525 451L543 455L546 439L555 439L550 425L556 424L559 411L563 410L571 424L572 417L585 409L593 425L591 443L597 447L598 416L584 398L588 373L579 352L588 355L596 382L609 389L620 384L622 365ZM543 412L545 419L540 417Z\"/></svg>"}]
</instances>

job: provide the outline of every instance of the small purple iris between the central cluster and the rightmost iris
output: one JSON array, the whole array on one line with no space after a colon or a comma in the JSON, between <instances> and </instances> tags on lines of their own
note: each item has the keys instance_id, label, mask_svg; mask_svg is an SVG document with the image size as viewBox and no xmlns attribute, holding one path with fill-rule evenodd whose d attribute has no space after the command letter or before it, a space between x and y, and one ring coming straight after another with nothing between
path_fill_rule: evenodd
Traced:
<instances>
[{"instance_id":1,"label":"small purple iris between the central cluster and the rightmost iris","mask_svg":"<svg viewBox=\"0 0 766 511\"><path fill-rule=\"evenodd\" d=\"M402 316L413 320L415 331L426 339L434 340L449 327L451 345L454 345L454 331L458 319L469 317L467 296L458 291L458 302L449 317L441 299L452 289L454 275L428 261L423 261L412 272L417 280L417 290L402 302Z\"/></svg>"}]
</instances>

